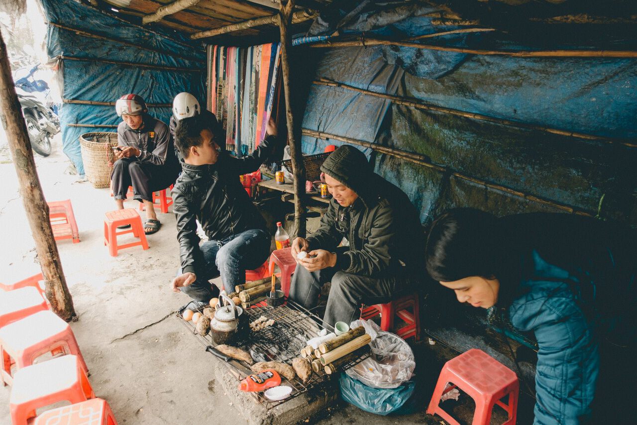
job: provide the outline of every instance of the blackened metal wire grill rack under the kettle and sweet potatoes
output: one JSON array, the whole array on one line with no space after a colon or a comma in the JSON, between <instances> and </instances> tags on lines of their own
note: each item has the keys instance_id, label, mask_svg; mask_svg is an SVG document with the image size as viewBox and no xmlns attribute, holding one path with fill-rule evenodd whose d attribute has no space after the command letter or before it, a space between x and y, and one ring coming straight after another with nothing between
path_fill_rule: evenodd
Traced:
<instances>
[{"instance_id":1,"label":"blackened metal wire grill rack under the kettle and sweet potatoes","mask_svg":"<svg viewBox=\"0 0 637 425\"><path fill-rule=\"evenodd\" d=\"M197 309L199 312L203 312L206 306L201 306ZM195 326L192 321L185 321L182 316L182 312L185 308L182 308L176 317L182 322L182 324L196 336L197 340L201 342L204 347L209 345L215 346L210 334L201 336L196 333ZM279 361L286 364L292 364L292 359L300 356L301 349L306 346L306 341L310 338L318 336L319 331L323 329L320 326L321 319L304 308L303 306L294 303L290 299L287 300L285 305L271 307L264 302L259 303L251 308L244 310L247 314L248 321L252 322L261 316L265 316L266 319L274 319L275 323L268 328L264 328L261 331L252 331L246 329L243 333L237 335L233 340L232 345L234 347L240 347L247 352L250 352L250 356L255 361ZM334 329L327 325L328 332L332 332ZM370 356L369 353L362 355L361 357L350 361L347 364L340 366L340 370L347 370L355 364L361 363L364 359ZM246 366L236 360L231 360L224 363L232 375L237 378L238 381L245 378L249 373L254 373ZM287 381L286 385L292 387L292 393L288 398L280 401L271 401L263 396L263 393L248 393L255 400L260 403L266 410L270 410L286 401L290 401L293 398L305 393L312 387L329 380L336 375L327 375L324 371L318 373L312 371L308 382L303 382L298 377L294 377L292 381ZM282 379L285 379L282 377Z\"/></svg>"}]
</instances>

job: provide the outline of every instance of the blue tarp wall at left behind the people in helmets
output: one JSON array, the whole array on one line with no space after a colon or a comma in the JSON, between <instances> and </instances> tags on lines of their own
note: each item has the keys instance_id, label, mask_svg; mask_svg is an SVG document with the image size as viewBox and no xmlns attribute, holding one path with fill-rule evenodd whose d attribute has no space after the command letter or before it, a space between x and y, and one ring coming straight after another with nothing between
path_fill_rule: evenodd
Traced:
<instances>
[{"instance_id":1,"label":"blue tarp wall at left behind the people in helmets","mask_svg":"<svg viewBox=\"0 0 637 425\"><path fill-rule=\"evenodd\" d=\"M115 102L127 93L142 96L149 104L170 104L178 92L190 92L204 104L206 58L201 44L180 34L164 34L132 25L73 0L41 0L47 17L47 50L58 56L86 59L60 62L64 99ZM99 40L52 24L63 25L110 40ZM110 64L99 60L131 62L161 70ZM148 112L168 124L169 107L150 107ZM78 173L84 174L78 137L91 131L116 131L112 127L69 127L68 124L117 125L115 106L64 103L60 113L62 146Z\"/></svg>"}]
</instances>

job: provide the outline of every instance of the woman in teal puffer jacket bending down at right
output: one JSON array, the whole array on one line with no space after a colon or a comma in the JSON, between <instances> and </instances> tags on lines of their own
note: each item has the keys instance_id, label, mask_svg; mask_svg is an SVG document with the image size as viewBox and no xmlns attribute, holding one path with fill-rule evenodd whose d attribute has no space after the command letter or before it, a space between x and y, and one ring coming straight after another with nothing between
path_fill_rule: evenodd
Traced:
<instances>
[{"instance_id":1,"label":"woman in teal puffer jacket bending down at right","mask_svg":"<svg viewBox=\"0 0 637 425\"><path fill-rule=\"evenodd\" d=\"M426 264L458 301L534 334L535 424L622 423L637 377L636 253L631 229L599 220L458 208L431 226Z\"/></svg>"}]
</instances>

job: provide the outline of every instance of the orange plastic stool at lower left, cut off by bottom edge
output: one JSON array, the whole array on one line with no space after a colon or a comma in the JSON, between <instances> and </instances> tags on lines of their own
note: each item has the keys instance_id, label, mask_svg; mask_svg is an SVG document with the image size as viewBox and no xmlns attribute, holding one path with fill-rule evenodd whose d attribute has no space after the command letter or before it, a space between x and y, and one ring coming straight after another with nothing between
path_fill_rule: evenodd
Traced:
<instances>
[{"instance_id":1,"label":"orange plastic stool at lower left, cut off by bottom edge","mask_svg":"<svg viewBox=\"0 0 637 425\"><path fill-rule=\"evenodd\" d=\"M47 410L36 417L33 425L117 425L106 400L92 398L75 405Z\"/></svg>"}]
</instances>

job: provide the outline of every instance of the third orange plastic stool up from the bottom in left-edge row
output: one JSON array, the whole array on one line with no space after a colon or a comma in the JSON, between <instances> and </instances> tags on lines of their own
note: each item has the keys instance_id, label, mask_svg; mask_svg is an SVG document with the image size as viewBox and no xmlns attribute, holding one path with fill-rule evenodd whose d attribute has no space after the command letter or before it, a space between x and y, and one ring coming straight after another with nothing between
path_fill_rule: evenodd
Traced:
<instances>
[{"instance_id":1,"label":"third orange plastic stool up from the bottom in left-edge row","mask_svg":"<svg viewBox=\"0 0 637 425\"><path fill-rule=\"evenodd\" d=\"M78 342L69 324L49 310L37 312L12 322L0 329L0 355L2 368L0 380L11 384L11 364L18 370L31 366L47 352L73 354L78 357L85 373L89 369L84 362Z\"/></svg>"}]
</instances>

